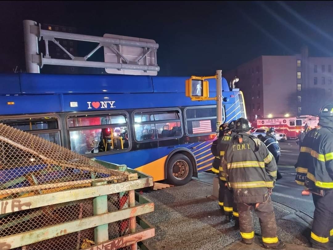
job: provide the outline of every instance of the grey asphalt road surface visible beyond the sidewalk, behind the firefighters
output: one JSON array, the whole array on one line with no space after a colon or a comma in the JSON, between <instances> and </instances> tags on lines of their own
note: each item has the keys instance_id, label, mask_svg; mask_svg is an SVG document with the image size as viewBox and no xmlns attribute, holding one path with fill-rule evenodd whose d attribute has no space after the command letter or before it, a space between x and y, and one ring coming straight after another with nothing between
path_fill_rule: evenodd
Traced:
<instances>
[{"instance_id":1,"label":"grey asphalt road surface visible beyond the sidewalk, behind the firefighters","mask_svg":"<svg viewBox=\"0 0 333 250\"><path fill-rule=\"evenodd\" d=\"M272 200L301 210L310 216L313 216L314 205L312 195L302 196L303 186L296 184L295 163L299 154L299 146L295 140L287 140L280 142L281 156L278 163L279 172L282 174L282 179L276 181L272 193ZM215 174L199 173L198 180L212 184L212 179Z\"/></svg>"}]
</instances>

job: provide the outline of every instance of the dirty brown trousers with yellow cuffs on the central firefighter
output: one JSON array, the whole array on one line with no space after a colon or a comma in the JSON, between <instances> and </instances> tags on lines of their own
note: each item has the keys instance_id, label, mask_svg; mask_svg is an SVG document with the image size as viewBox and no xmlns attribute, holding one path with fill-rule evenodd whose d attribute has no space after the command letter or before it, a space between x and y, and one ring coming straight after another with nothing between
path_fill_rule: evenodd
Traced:
<instances>
[{"instance_id":1,"label":"dirty brown trousers with yellow cuffs on the central firefighter","mask_svg":"<svg viewBox=\"0 0 333 250\"><path fill-rule=\"evenodd\" d=\"M276 235L276 221L270 196L266 202L256 204L237 203L239 213L239 231L245 243L254 241L254 229L251 210L254 209L259 217L262 242L266 246L277 246L279 239Z\"/></svg>"}]
</instances>

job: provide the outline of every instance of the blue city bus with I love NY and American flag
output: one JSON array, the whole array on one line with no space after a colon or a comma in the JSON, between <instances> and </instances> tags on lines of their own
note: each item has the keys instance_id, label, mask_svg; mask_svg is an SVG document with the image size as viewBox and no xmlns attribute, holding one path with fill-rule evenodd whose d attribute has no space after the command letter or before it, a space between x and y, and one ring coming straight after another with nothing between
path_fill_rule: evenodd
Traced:
<instances>
[{"instance_id":1,"label":"blue city bus with I love NY and American flag","mask_svg":"<svg viewBox=\"0 0 333 250\"><path fill-rule=\"evenodd\" d=\"M187 77L0 74L0 122L72 151L184 185L211 169L216 101L185 97ZM215 79L210 96L216 95ZM246 117L222 79L223 121Z\"/></svg>"}]
</instances>

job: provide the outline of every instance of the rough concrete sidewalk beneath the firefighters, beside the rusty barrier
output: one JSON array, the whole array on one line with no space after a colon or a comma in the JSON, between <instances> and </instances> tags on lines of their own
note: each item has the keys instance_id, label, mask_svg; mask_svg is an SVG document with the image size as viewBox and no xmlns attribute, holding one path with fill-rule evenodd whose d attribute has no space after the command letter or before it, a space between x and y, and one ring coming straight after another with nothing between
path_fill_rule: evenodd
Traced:
<instances>
[{"instance_id":1,"label":"rough concrete sidewalk beneath the firefighters, beside the rusty barrier","mask_svg":"<svg viewBox=\"0 0 333 250\"><path fill-rule=\"evenodd\" d=\"M217 201L207 198L211 193L210 184L196 180L185 186L145 193L154 201L155 212L144 217L156 228L156 236L147 243L154 249L167 250L263 249L260 237L250 246L239 242L239 230L234 227L234 222L225 222ZM310 249L311 218L282 204L273 202L273 205L278 237L290 243L287 249ZM259 236L259 221L256 215L253 217L255 234Z\"/></svg>"}]
</instances>

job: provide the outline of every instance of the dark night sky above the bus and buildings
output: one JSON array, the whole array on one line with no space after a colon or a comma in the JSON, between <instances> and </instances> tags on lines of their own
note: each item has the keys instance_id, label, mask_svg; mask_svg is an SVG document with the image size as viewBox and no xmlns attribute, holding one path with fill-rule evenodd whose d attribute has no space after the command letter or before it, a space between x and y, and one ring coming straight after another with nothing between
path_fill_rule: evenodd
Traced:
<instances>
[{"instance_id":1,"label":"dark night sky above the bus and buildings","mask_svg":"<svg viewBox=\"0 0 333 250\"><path fill-rule=\"evenodd\" d=\"M332 1L1 1L0 72L24 69L24 19L154 39L159 75L207 75L302 45L310 56L332 56L332 13Z\"/></svg>"}]
</instances>

